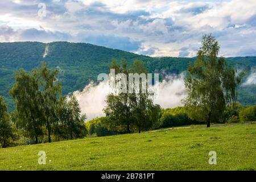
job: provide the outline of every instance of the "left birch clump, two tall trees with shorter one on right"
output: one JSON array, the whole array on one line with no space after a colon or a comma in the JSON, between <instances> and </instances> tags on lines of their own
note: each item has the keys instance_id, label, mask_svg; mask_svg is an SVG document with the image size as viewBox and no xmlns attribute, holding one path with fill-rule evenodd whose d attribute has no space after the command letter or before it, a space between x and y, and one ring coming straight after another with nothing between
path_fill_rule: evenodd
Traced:
<instances>
[{"instance_id":1,"label":"left birch clump, two tall trees with shorter one on right","mask_svg":"<svg viewBox=\"0 0 256 182\"><path fill-rule=\"evenodd\" d=\"M12 119L22 130L24 137L48 142L52 135L56 140L85 136L85 115L74 96L70 101L61 94L61 84L57 82L58 71L51 71L45 64L31 73L23 69L16 72L16 83L10 90L16 103Z\"/></svg>"}]
</instances>

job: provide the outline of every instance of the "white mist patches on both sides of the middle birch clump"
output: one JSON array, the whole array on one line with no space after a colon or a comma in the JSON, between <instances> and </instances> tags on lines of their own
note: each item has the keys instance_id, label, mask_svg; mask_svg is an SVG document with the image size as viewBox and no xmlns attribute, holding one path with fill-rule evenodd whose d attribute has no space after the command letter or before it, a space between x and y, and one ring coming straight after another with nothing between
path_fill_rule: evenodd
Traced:
<instances>
[{"instance_id":1,"label":"white mist patches on both sides of the middle birch clump","mask_svg":"<svg viewBox=\"0 0 256 182\"><path fill-rule=\"evenodd\" d=\"M104 116L102 111L106 105L106 96L110 93L108 82L100 82L96 85L91 82L85 86L82 92L76 91L75 94L81 106L82 113L87 115L87 121L96 117ZM181 106L181 100L185 98L184 76L168 76L159 82L158 97L154 103L163 108Z\"/></svg>"}]
</instances>

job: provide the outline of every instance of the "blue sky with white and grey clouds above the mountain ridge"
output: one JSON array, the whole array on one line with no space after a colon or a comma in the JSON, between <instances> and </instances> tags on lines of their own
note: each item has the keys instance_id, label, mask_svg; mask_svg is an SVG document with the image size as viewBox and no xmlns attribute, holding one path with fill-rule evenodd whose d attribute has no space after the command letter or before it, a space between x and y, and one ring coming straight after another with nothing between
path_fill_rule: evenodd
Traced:
<instances>
[{"instance_id":1,"label":"blue sky with white and grey clouds above the mountain ridge","mask_svg":"<svg viewBox=\"0 0 256 182\"><path fill-rule=\"evenodd\" d=\"M0 42L83 42L149 56L193 57L209 33L222 56L256 56L256 1L0 2Z\"/></svg>"}]
</instances>

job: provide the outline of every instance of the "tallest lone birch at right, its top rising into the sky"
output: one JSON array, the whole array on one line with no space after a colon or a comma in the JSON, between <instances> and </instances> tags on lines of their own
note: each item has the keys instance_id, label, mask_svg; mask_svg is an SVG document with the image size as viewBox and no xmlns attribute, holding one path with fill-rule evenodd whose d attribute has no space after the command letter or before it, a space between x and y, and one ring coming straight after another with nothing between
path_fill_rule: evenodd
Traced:
<instances>
[{"instance_id":1,"label":"tallest lone birch at right, its top rising into the sky","mask_svg":"<svg viewBox=\"0 0 256 182\"><path fill-rule=\"evenodd\" d=\"M197 60L188 68L185 86L188 97L183 101L193 119L220 121L226 105L236 100L236 88L241 76L228 67L224 57L218 57L220 46L212 35L204 35Z\"/></svg>"}]
</instances>

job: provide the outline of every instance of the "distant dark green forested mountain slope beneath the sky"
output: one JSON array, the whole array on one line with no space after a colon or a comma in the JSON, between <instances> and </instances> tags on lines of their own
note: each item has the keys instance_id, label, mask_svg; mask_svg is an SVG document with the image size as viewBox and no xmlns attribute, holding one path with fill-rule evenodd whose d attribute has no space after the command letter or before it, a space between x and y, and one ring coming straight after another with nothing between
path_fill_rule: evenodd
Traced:
<instances>
[{"instance_id":1,"label":"distant dark green forested mountain slope beneath the sky","mask_svg":"<svg viewBox=\"0 0 256 182\"><path fill-rule=\"evenodd\" d=\"M19 68L31 71L44 62L51 68L60 69L59 80L63 84L63 93L67 94L84 88L92 80L96 80L99 73L108 73L113 59L126 59L129 64L134 60L142 60L148 70L153 73L181 73L185 71L189 62L195 58L150 57L135 53L95 46L86 43L68 42L14 42L0 43L0 95L8 97L9 90L14 84L14 72ZM256 57L230 57L230 65L250 69L256 65ZM244 104L256 104L254 100L240 98ZM244 94L247 97L247 94Z\"/></svg>"}]
</instances>

